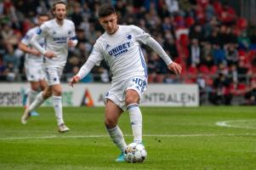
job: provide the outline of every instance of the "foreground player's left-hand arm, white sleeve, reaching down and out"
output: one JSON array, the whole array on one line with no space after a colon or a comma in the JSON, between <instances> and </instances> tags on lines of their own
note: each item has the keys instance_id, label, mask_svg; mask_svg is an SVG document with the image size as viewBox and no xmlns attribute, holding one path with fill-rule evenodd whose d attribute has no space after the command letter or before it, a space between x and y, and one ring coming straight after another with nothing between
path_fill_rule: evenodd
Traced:
<instances>
[{"instance_id":1,"label":"foreground player's left-hand arm, white sleeve, reaching down and out","mask_svg":"<svg viewBox=\"0 0 256 170\"><path fill-rule=\"evenodd\" d=\"M96 42L94 44L94 49L92 50L92 53L88 57L88 60L84 65L82 65L77 75L71 78L71 82L69 82L69 85L73 87L73 84L79 82L83 77L88 75L88 73L94 68L94 65L100 65L100 61L102 59L103 56L100 50L100 44Z\"/></svg>"}]
</instances>

